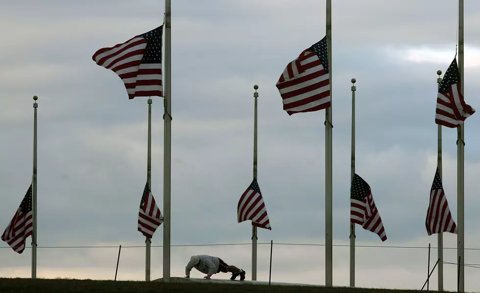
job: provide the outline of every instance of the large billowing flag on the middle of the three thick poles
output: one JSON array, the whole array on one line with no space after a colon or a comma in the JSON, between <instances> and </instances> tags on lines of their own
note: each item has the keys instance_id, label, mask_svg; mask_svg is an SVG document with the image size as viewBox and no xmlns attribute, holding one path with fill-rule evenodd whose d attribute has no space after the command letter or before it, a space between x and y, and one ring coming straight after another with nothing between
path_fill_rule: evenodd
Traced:
<instances>
[{"instance_id":1,"label":"large billowing flag on the middle of the three thick poles","mask_svg":"<svg viewBox=\"0 0 480 293\"><path fill-rule=\"evenodd\" d=\"M288 63L276 86L288 115L330 107L327 36Z\"/></svg>"}]
</instances>

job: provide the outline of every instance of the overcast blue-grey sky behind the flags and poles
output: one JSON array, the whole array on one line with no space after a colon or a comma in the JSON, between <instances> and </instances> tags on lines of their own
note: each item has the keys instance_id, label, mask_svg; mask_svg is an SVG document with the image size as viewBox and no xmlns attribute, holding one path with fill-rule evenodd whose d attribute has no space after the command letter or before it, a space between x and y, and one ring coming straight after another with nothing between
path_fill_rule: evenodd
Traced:
<instances>
[{"instance_id":1,"label":"overcast blue-grey sky behind the flags and poles","mask_svg":"<svg viewBox=\"0 0 480 293\"><path fill-rule=\"evenodd\" d=\"M325 35L324 0L172 1L171 244L249 243L237 203L252 180L253 85L259 85L258 182L272 231L259 242L324 244L324 111L288 116L275 84ZM425 217L436 166L436 71L455 56L457 1L333 1L333 237L348 244L351 78L357 79L356 170L371 186L388 240L357 227L358 245L436 247ZM38 245L142 246L147 102L92 60L163 22L161 0L44 0L2 4L0 228L32 175L32 97L38 99ZM465 101L480 108L480 2L465 1ZM163 211L163 101L152 105L151 189ZM480 114L465 125L465 247L480 248ZM443 129L443 184L457 219L456 130ZM161 245L163 226L152 244ZM445 247L456 235L445 234ZM30 240L28 240L28 243ZM2 243L1 246L6 246ZM0 249L0 276L29 277L30 249ZM324 284L323 246L274 245L272 281ZM249 245L172 247L171 275L210 254L251 276ZM113 279L118 248L38 248L39 277ZM436 260L432 250L431 268ZM456 250L445 249L446 262ZM348 247L334 247L334 285L348 286ZM427 249L357 248L357 286L419 289ZM480 264L466 250L465 263ZM118 278L144 279L144 248L123 248ZM269 245L258 279L268 280ZM456 266L444 265L456 290ZM480 286L465 268L465 290ZM193 271L193 277L202 274ZM431 289L436 288L436 272ZM162 248L152 248L152 279ZM229 278L227 274L216 278Z\"/></svg>"}]
</instances>

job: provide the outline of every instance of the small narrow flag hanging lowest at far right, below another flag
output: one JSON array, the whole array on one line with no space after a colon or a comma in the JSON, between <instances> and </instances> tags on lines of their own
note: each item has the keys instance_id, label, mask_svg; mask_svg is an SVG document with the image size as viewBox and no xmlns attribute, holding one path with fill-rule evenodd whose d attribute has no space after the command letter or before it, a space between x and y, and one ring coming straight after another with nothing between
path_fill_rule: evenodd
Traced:
<instances>
[{"instance_id":1,"label":"small narrow flag hanging lowest at far right, below another flag","mask_svg":"<svg viewBox=\"0 0 480 293\"><path fill-rule=\"evenodd\" d=\"M452 219L452 214L448 208L447 197L443 191L442 178L440 177L438 166L430 191L430 203L425 227L427 227L429 236L442 232L458 233L455 221Z\"/></svg>"}]
</instances>

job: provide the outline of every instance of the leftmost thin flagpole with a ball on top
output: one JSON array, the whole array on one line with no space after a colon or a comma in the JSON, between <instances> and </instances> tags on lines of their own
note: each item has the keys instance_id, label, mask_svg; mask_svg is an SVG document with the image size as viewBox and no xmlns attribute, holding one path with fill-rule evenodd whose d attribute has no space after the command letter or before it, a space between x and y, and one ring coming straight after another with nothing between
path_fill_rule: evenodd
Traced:
<instances>
[{"instance_id":1,"label":"leftmost thin flagpole with a ball on top","mask_svg":"<svg viewBox=\"0 0 480 293\"><path fill-rule=\"evenodd\" d=\"M37 278L37 96L33 96L33 235L32 235L32 279Z\"/></svg>"}]
</instances>

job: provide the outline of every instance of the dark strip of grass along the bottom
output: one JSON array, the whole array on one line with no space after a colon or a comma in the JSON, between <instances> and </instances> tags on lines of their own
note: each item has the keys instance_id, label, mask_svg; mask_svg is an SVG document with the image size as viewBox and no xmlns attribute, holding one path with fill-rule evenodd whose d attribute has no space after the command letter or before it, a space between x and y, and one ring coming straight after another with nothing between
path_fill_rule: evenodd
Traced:
<instances>
[{"instance_id":1,"label":"dark strip of grass along the bottom","mask_svg":"<svg viewBox=\"0 0 480 293\"><path fill-rule=\"evenodd\" d=\"M412 290L319 288L141 281L0 278L0 293L412 293ZM436 291L430 291L433 293Z\"/></svg>"}]
</instances>

